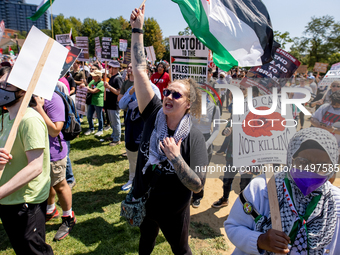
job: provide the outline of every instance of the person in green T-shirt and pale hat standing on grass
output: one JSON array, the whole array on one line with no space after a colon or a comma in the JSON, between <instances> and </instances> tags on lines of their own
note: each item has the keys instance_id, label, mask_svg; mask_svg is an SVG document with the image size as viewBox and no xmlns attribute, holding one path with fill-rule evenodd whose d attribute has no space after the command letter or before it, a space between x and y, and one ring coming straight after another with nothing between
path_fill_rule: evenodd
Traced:
<instances>
[{"instance_id":1,"label":"person in green T-shirt and pale hat standing on grass","mask_svg":"<svg viewBox=\"0 0 340 255\"><path fill-rule=\"evenodd\" d=\"M87 93L92 94L91 104L87 107L87 121L89 122L89 130L84 135L94 133L93 114L97 113L98 118L98 132L95 136L103 134L103 107L104 107L104 82L102 81L102 72L95 70L91 73L92 81L88 85Z\"/></svg>"}]
</instances>

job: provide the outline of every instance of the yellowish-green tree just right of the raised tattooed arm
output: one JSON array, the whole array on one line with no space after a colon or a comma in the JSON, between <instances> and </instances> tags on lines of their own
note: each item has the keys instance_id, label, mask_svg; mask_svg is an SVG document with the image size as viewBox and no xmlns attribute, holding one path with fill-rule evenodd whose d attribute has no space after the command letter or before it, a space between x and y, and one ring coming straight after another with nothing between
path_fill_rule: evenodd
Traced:
<instances>
[{"instance_id":1,"label":"yellowish-green tree just right of the raised tattooed arm","mask_svg":"<svg viewBox=\"0 0 340 255\"><path fill-rule=\"evenodd\" d=\"M165 46L162 29L154 18L147 18L144 22L144 45L154 47L157 60L163 58Z\"/></svg>"}]
</instances>

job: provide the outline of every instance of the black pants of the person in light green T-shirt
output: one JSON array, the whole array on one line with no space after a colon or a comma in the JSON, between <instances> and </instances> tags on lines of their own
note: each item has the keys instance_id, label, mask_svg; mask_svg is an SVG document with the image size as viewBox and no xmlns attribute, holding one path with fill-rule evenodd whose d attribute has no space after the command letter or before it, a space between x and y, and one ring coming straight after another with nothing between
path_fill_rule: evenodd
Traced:
<instances>
[{"instance_id":1,"label":"black pants of the person in light green T-shirt","mask_svg":"<svg viewBox=\"0 0 340 255\"><path fill-rule=\"evenodd\" d=\"M16 254L53 254L45 243L47 200L41 204L0 205L0 217Z\"/></svg>"}]
</instances>

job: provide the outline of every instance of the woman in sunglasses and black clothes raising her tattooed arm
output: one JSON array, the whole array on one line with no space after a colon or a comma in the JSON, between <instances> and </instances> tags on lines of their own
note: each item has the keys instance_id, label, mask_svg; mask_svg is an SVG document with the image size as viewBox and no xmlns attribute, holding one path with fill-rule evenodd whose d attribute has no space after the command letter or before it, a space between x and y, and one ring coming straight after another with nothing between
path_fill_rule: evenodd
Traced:
<instances>
[{"instance_id":1,"label":"woman in sunglasses and black clothes raising her tattooed arm","mask_svg":"<svg viewBox=\"0 0 340 255\"><path fill-rule=\"evenodd\" d=\"M135 9L132 27L132 69L139 111L145 122L138 151L132 194L138 199L153 186L140 226L139 254L150 254L159 229L174 254L192 254L188 245L190 199L204 185L208 156L202 133L190 114L200 118L201 94L191 79L177 80L155 96L147 73L143 45L144 10ZM190 114L189 114L190 113ZM157 181L156 173L161 172Z\"/></svg>"}]
</instances>

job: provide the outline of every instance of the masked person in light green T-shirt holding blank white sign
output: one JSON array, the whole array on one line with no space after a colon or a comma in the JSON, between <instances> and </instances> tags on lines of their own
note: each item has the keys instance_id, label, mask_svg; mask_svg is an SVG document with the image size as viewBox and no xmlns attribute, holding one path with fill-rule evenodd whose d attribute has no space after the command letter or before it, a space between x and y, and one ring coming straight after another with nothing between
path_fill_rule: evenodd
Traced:
<instances>
[{"instance_id":1,"label":"masked person in light green T-shirt holding blank white sign","mask_svg":"<svg viewBox=\"0 0 340 255\"><path fill-rule=\"evenodd\" d=\"M45 217L50 191L50 148L44 119L30 106L20 122L11 154L4 149L25 91L0 83L0 218L16 254L53 254L45 243ZM4 79L3 79L4 78Z\"/></svg>"}]
</instances>

